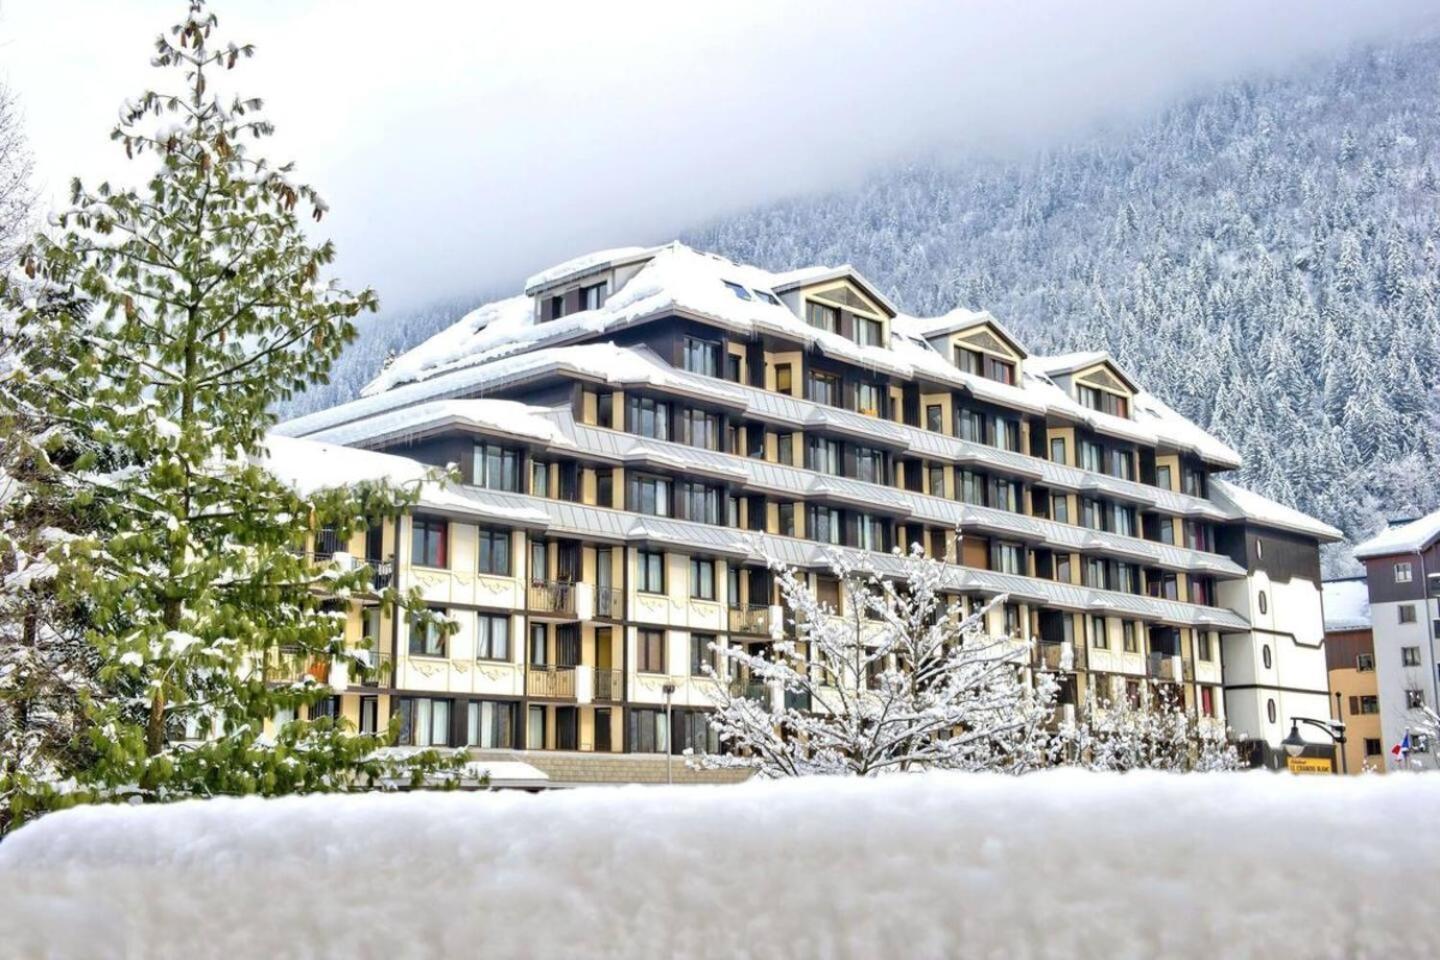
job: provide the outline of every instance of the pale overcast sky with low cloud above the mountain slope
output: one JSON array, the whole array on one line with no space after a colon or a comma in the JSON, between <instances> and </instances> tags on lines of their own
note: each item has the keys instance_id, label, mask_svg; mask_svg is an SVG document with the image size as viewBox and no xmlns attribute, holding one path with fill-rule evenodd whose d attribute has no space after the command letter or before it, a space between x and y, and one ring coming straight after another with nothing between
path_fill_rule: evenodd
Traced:
<instances>
[{"instance_id":1,"label":"pale overcast sky with low cloud above the mountain slope","mask_svg":"<svg viewBox=\"0 0 1440 960\"><path fill-rule=\"evenodd\" d=\"M331 203L338 272L389 307L842 186L916 151L1009 151L1256 71L1428 29L1436 0L228 0L269 153ZM181 0L0 0L42 187L135 180L108 140ZM173 81L170 81L173 82Z\"/></svg>"}]
</instances>

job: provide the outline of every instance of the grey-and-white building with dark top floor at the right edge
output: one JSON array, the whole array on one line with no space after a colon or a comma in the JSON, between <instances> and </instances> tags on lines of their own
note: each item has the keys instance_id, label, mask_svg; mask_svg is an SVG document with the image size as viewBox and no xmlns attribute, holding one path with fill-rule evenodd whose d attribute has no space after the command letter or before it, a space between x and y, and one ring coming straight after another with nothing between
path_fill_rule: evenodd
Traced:
<instances>
[{"instance_id":1,"label":"grey-and-white building with dark top floor at the right edge","mask_svg":"<svg viewBox=\"0 0 1440 960\"><path fill-rule=\"evenodd\" d=\"M1365 564L1374 633L1380 725L1387 761L1410 735L1407 764L1440 766L1423 733L1424 711L1440 704L1440 511L1397 521L1355 548Z\"/></svg>"}]
</instances>

